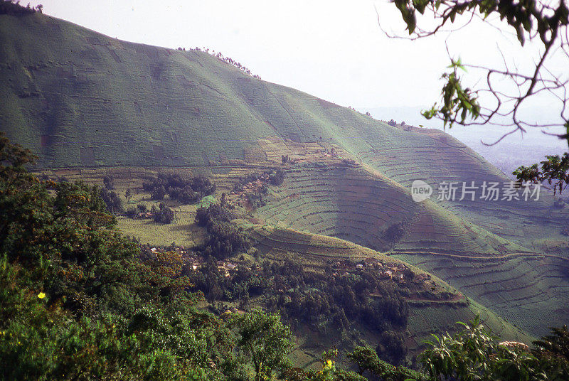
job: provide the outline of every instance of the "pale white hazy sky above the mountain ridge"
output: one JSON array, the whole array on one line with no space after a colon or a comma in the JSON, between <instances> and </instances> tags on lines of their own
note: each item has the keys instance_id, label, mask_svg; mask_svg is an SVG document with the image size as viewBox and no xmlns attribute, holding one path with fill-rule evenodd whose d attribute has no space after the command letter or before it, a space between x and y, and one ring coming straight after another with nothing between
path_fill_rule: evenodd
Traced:
<instances>
[{"instance_id":1,"label":"pale white hazy sky above the mountain ridge","mask_svg":"<svg viewBox=\"0 0 569 381\"><path fill-rule=\"evenodd\" d=\"M405 28L388 0L31 1L38 3L45 14L122 40L205 46L263 80L358 109L427 107L437 101L439 77L449 63L445 43L453 56L479 65L501 64L498 45L521 68L533 63L536 51L519 49L509 33L483 23L448 38L388 38L376 9L385 30Z\"/></svg>"}]
</instances>

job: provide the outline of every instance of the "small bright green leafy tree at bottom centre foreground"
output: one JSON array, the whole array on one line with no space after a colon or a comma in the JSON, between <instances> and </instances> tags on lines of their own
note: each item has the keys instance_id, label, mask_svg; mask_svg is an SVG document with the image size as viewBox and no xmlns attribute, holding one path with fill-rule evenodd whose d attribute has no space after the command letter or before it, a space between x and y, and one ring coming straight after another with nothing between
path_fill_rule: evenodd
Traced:
<instances>
[{"instance_id":1,"label":"small bright green leafy tree at bottom centre foreground","mask_svg":"<svg viewBox=\"0 0 569 381\"><path fill-rule=\"evenodd\" d=\"M238 347L252 363L255 381L272 380L275 372L287 370L292 333L276 313L255 308L237 316L234 324Z\"/></svg>"}]
</instances>

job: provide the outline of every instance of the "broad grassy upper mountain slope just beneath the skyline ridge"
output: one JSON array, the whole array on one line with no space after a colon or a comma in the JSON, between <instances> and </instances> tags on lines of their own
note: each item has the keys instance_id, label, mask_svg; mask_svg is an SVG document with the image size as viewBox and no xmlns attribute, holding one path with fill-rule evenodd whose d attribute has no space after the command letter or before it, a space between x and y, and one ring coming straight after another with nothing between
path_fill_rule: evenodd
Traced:
<instances>
[{"instance_id":1,"label":"broad grassy upper mountain slope just beneath the skyline ridge","mask_svg":"<svg viewBox=\"0 0 569 381\"><path fill-rule=\"evenodd\" d=\"M272 138L337 144L403 186L506 180L447 134L390 127L206 53L118 41L43 15L1 18L0 120L42 167L250 161ZM567 213L552 202L445 206L528 247L543 238L531 228L537 218L563 240Z\"/></svg>"}]
</instances>

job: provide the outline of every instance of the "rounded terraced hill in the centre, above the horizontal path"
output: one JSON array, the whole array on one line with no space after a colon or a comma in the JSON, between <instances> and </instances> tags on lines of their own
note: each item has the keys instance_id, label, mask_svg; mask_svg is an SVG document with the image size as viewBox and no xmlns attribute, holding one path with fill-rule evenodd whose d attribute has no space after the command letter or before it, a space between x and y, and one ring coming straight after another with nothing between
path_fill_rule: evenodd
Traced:
<instances>
[{"instance_id":1,"label":"rounded terraced hill in the centre, above the horizontal path","mask_svg":"<svg viewBox=\"0 0 569 381\"><path fill-rule=\"evenodd\" d=\"M374 249L427 250L466 256L528 251L466 222L364 168L324 166L287 171L275 200L257 213L269 223L341 237ZM388 229L400 226L402 237Z\"/></svg>"}]
</instances>

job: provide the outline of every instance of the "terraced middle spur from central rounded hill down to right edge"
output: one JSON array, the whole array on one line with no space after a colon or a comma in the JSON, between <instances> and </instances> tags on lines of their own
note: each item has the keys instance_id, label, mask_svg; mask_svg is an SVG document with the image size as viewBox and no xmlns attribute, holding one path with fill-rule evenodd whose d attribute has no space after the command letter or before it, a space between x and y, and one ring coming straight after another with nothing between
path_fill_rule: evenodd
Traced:
<instances>
[{"instance_id":1,"label":"terraced middle spur from central rounded hill down to right edge","mask_svg":"<svg viewBox=\"0 0 569 381\"><path fill-rule=\"evenodd\" d=\"M558 324L569 318L569 261L536 254L435 203L414 203L404 188L362 168L289 171L257 213L267 223L388 247L528 332L546 333L543 313ZM390 247L385 230L400 222L405 232Z\"/></svg>"}]
</instances>

